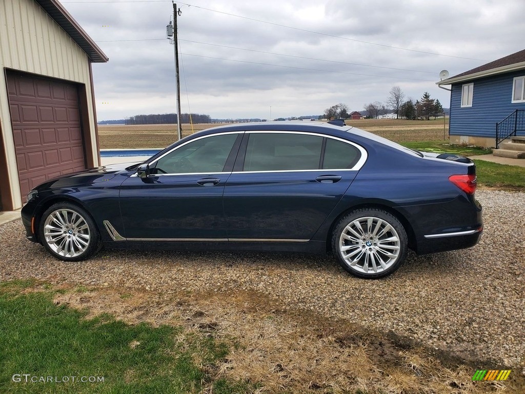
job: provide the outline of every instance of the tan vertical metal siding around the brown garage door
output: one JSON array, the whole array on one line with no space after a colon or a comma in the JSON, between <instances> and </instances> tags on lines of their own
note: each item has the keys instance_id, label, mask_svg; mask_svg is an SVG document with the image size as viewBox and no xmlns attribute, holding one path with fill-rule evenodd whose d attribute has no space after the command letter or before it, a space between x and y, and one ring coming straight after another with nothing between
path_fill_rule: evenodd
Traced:
<instances>
[{"instance_id":1,"label":"tan vertical metal siding around the brown garage door","mask_svg":"<svg viewBox=\"0 0 525 394\"><path fill-rule=\"evenodd\" d=\"M79 82L86 86L92 152L98 163L96 125L89 58L75 41L33 0L0 0L0 128L8 161L15 208L22 206L19 198L18 173L10 125L5 69Z\"/></svg>"}]
</instances>

